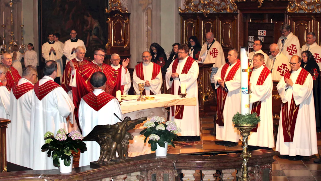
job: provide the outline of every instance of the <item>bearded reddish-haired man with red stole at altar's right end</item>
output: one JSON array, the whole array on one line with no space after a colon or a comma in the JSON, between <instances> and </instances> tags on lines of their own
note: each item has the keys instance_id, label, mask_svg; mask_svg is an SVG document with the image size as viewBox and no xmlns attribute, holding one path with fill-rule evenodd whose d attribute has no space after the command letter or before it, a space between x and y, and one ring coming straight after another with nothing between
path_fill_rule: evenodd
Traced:
<instances>
[{"instance_id":1,"label":"bearded reddish-haired man with red stole at altar's right end","mask_svg":"<svg viewBox=\"0 0 321 181\"><path fill-rule=\"evenodd\" d=\"M189 48L186 44L178 46L178 58L175 59L166 72L166 87L171 88L173 95L181 93L181 86L184 84L188 97L196 98L195 106L176 105L170 109L170 119L175 121L182 129L178 134L182 141L200 140L200 119L198 110L198 64L188 56ZM178 141L181 141L180 139Z\"/></svg>"}]
</instances>

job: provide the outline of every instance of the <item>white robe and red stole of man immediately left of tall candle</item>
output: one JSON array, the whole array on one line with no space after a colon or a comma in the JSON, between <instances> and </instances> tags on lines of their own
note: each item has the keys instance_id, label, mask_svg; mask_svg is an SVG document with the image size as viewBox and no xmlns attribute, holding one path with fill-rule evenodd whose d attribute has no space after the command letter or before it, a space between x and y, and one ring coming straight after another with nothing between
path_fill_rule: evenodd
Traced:
<instances>
[{"instance_id":1,"label":"white robe and red stole of man immediately left of tall candle","mask_svg":"<svg viewBox=\"0 0 321 181\"><path fill-rule=\"evenodd\" d=\"M239 142L239 130L234 128L232 118L240 112L241 101L241 69L240 60L234 64L227 62L214 75L214 85L217 89L216 139ZM225 88L218 84L225 81ZM247 90L242 90L247 93ZM225 108L225 109L224 109Z\"/></svg>"}]
</instances>

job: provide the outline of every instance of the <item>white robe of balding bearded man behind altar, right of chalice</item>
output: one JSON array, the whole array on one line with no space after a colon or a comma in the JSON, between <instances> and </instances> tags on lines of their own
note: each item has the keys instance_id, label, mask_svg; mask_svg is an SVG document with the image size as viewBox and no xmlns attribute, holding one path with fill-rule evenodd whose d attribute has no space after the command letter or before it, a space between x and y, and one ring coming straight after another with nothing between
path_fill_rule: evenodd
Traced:
<instances>
[{"instance_id":1,"label":"white robe of balding bearded man behind altar, right of chalice","mask_svg":"<svg viewBox=\"0 0 321 181\"><path fill-rule=\"evenodd\" d=\"M140 83L144 84L145 81L149 81L149 84L151 85L149 87L145 87L145 93L147 96L150 95L151 91L154 94L161 94L160 88L161 88L161 85L163 84L163 78L161 76L161 71L159 72L159 74L156 76L156 78L154 80L151 80L152 73L153 73L153 67L154 67L154 63L152 63L152 62L149 62L149 64L147 64L147 65L143 63L143 73L144 73L145 80L141 80L140 78L137 77L136 67L135 67L134 73L133 73L133 87L134 87L134 90L137 95L140 94L140 91L138 90L138 84L140 84Z\"/></svg>"}]
</instances>

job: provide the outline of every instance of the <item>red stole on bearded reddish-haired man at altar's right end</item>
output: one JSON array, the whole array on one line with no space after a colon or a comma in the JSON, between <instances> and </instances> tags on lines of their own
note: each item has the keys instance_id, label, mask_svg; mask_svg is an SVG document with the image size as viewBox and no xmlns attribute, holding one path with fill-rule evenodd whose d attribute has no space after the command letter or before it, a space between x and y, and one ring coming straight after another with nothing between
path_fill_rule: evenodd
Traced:
<instances>
[{"instance_id":1,"label":"red stole on bearded reddish-haired man at altar's right end","mask_svg":"<svg viewBox=\"0 0 321 181\"><path fill-rule=\"evenodd\" d=\"M192 64L195 60L188 56L185 65L183 67L182 73L188 73L189 69L192 67ZM175 59L172 65L172 73L176 72L178 66L178 59ZM174 95L175 87L174 82L172 83L171 92L170 94ZM181 92L180 87L178 87L178 95ZM174 111L175 106L171 106L172 109L172 117L175 116L175 119L183 119L183 113L184 113L184 105L177 105L176 110Z\"/></svg>"}]
</instances>

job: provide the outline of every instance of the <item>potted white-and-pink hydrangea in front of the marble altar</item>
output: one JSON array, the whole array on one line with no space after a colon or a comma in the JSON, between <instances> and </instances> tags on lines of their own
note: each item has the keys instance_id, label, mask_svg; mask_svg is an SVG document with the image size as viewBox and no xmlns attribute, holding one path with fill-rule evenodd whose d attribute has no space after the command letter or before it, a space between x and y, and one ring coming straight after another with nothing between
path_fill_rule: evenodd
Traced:
<instances>
[{"instance_id":1,"label":"potted white-and-pink hydrangea in front of the marble altar","mask_svg":"<svg viewBox=\"0 0 321 181\"><path fill-rule=\"evenodd\" d=\"M146 127L140 134L144 134L146 143L149 137L148 143L151 144L152 151L156 151L156 156L164 157L167 155L167 146L173 144L173 138L177 137L177 133L181 132L181 129L177 127L174 121L167 121L159 116L154 116L152 119L144 124Z\"/></svg>"}]
</instances>

